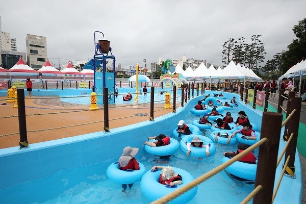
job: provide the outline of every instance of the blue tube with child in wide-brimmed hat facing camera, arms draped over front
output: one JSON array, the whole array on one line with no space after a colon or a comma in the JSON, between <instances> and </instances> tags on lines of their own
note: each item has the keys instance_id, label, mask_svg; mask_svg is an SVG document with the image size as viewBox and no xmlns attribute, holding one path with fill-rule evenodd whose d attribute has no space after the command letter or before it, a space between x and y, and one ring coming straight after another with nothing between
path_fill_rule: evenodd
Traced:
<instances>
[{"instance_id":1,"label":"blue tube with child in wide-brimmed hat facing camera, arms draped over front","mask_svg":"<svg viewBox=\"0 0 306 204\"><path fill-rule=\"evenodd\" d=\"M191 142L191 140L194 137L199 137L200 140L204 141L203 144L207 144L207 145L210 144L210 147L209 147L210 157L213 156L216 153L216 146L215 146L214 142L210 138L205 137L203 135L189 135L187 137L184 137L180 142L180 147L181 147L183 152L185 152L187 154L188 149L187 149L187 144L185 142ZM205 157L207 157L206 156L206 148L203 148L203 147L199 148L199 147L191 146L190 156L205 158Z\"/></svg>"}]
</instances>

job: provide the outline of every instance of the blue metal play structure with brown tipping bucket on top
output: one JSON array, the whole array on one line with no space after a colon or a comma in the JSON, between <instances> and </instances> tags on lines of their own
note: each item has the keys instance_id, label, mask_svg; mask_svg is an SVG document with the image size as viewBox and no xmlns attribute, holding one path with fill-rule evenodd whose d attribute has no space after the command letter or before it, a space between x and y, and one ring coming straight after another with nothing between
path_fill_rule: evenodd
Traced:
<instances>
[{"instance_id":1,"label":"blue metal play structure with brown tipping bucket on top","mask_svg":"<svg viewBox=\"0 0 306 204\"><path fill-rule=\"evenodd\" d=\"M96 41L96 34L101 33L104 38L104 34L100 31L94 32L94 55L93 58L90 59L86 65L83 67L83 69L93 69L94 73L94 86L92 88L92 91L96 94L102 94L103 88L107 87L109 88L109 93L115 93L115 56L112 54L112 48L109 46L110 41L108 40L98 40ZM110 55L109 55L110 53ZM106 72L106 64L107 59L113 60L113 73ZM102 65L103 71L96 73L96 68ZM101 76L102 74L102 76ZM113 95L112 95L113 96ZM98 104L101 104L101 101L98 99ZM100 103L99 103L100 102ZM115 97L109 97L110 103L115 103Z\"/></svg>"}]
</instances>

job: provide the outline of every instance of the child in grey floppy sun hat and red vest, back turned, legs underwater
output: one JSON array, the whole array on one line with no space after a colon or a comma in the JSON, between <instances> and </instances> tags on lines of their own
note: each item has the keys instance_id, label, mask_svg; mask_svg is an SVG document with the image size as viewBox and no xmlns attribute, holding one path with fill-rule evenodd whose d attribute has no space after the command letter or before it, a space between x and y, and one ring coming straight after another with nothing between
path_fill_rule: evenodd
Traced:
<instances>
[{"instance_id":1,"label":"child in grey floppy sun hat and red vest, back turned, legs underwater","mask_svg":"<svg viewBox=\"0 0 306 204\"><path fill-rule=\"evenodd\" d=\"M132 148L130 146L126 146L123 149L123 154L119 158L119 167L121 170L127 170L127 169L132 169L132 170L139 170L139 163L137 160L134 158L135 155L138 152L138 148ZM129 184L129 188L131 189L133 184ZM127 188L126 184L122 184L122 192L125 193L125 190Z\"/></svg>"}]
</instances>

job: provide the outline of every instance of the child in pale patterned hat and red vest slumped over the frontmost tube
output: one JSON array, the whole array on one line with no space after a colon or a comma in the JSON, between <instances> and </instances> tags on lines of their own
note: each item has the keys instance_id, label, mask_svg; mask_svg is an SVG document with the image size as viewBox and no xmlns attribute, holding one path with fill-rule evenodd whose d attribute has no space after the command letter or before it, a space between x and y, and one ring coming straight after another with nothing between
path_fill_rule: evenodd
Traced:
<instances>
[{"instance_id":1,"label":"child in pale patterned hat and red vest slumped over the frontmost tube","mask_svg":"<svg viewBox=\"0 0 306 204\"><path fill-rule=\"evenodd\" d=\"M159 183L169 186L178 186L183 184L182 176L175 173L172 167L154 166L151 168L151 171L156 171L158 169L162 170L159 178Z\"/></svg>"}]
</instances>

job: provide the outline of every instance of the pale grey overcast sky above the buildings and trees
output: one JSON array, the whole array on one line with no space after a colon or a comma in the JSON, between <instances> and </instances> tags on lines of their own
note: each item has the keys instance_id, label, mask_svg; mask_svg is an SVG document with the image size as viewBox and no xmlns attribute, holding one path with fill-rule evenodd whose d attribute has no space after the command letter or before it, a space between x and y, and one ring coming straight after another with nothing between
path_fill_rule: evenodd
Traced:
<instances>
[{"instance_id":1,"label":"pale grey overcast sky above the buildings and trees","mask_svg":"<svg viewBox=\"0 0 306 204\"><path fill-rule=\"evenodd\" d=\"M222 65L228 38L262 35L266 60L295 38L292 29L306 17L306 1L1 1L2 31L25 52L27 34L45 36L47 55L58 67L94 54L94 31L111 41L116 65L147 67L163 59L205 59ZM102 39L101 35L97 38ZM305 56L306 57L306 56ZM264 65L263 63L262 65Z\"/></svg>"}]
</instances>

